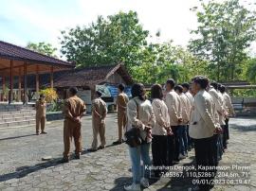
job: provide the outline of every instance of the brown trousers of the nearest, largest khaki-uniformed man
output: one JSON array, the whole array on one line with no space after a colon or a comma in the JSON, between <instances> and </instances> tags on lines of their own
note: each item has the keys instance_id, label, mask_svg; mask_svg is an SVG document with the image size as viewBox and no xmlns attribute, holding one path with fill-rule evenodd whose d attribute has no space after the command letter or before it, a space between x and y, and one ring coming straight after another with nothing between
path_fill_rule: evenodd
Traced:
<instances>
[{"instance_id":1,"label":"brown trousers of the nearest, largest khaki-uniformed man","mask_svg":"<svg viewBox=\"0 0 256 191\"><path fill-rule=\"evenodd\" d=\"M72 142L72 138L74 138L76 155L79 155L82 151L81 127L81 123L64 119L64 158L69 158L70 143Z\"/></svg>"}]
</instances>

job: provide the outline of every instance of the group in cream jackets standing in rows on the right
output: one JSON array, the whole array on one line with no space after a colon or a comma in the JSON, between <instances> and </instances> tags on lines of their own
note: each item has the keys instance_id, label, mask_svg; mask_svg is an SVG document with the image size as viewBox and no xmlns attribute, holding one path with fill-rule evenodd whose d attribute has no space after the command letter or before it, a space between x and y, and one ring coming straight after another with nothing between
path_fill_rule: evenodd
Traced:
<instances>
[{"instance_id":1,"label":"group in cream jackets standing in rows on the right","mask_svg":"<svg viewBox=\"0 0 256 191\"><path fill-rule=\"evenodd\" d=\"M137 127L147 131L147 139L137 147L128 146L133 183L124 186L125 190L137 191L140 185L149 186L147 170L141 170L141 160L144 166L174 165L186 158L193 147L196 165L218 165L229 140L229 116L234 114L223 85L210 83L205 77L192 78L191 85L175 85L174 79L168 79L164 87L152 86L151 100L142 84L134 84L131 93L126 129ZM155 177L164 173L155 169ZM199 183L194 190L205 191L210 186L207 182Z\"/></svg>"}]
</instances>

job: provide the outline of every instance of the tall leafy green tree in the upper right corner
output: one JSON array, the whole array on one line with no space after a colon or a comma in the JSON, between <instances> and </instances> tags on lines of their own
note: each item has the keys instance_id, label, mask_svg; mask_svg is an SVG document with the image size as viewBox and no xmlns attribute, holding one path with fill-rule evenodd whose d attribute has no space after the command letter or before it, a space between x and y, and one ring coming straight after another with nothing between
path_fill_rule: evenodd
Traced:
<instances>
[{"instance_id":1,"label":"tall leafy green tree in the upper right corner","mask_svg":"<svg viewBox=\"0 0 256 191\"><path fill-rule=\"evenodd\" d=\"M210 61L208 71L216 74L213 79L233 80L243 70L247 47L255 40L255 11L246 9L239 0L223 3L202 3L196 11L198 27L192 30L196 37L189 48L197 57Z\"/></svg>"}]
</instances>

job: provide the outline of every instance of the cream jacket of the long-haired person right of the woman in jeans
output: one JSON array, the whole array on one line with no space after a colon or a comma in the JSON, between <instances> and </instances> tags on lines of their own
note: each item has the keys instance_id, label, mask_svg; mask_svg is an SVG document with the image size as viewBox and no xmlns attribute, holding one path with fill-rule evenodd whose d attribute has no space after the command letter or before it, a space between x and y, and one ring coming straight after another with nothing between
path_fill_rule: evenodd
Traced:
<instances>
[{"instance_id":1,"label":"cream jacket of the long-haired person right of the woman in jeans","mask_svg":"<svg viewBox=\"0 0 256 191\"><path fill-rule=\"evenodd\" d=\"M155 113L155 127L152 134L167 135L165 127L170 127L170 116L165 102L155 98L152 102L153 111Z\"/></svg>"}]
</instances>

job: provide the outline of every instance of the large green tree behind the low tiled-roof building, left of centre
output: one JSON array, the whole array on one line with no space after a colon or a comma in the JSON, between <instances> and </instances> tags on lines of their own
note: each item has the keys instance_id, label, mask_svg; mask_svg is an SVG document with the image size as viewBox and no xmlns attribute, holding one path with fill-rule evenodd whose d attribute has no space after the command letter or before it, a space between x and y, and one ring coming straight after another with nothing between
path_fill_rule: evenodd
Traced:
<instances>
[{"instance_id":1,"label":"large green tree behind the low tiled-roof building, left of centre","mask_svg":"<svg viewBox=\"0 0 256 191\"><path fill-rule=\"evenodd\" d=\"M62 31L61 52L78 66L97 66L123 61L128 69L141 64L142 47L149 32L138 23L137 12L98 17L90 26Z\"/></svg>"}]
</instances>

